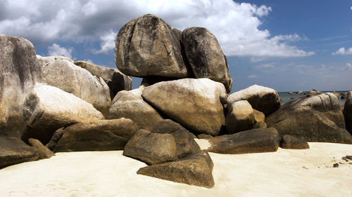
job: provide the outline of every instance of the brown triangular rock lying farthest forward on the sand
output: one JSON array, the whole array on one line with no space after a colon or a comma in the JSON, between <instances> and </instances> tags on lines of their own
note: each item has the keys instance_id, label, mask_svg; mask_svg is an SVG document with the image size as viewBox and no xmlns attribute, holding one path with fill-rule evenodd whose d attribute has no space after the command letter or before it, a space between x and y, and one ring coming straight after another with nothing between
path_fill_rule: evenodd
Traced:
<instances>
[{"instance_id":1,"label":"brown triangular rock lying farthest forward on the sand","mask_svg":"<svg viewBox=\"0 0 352 197\"><path fill-rule=\"evenodd\" d=\"M212 188L215 185L212 172L213 161L207 152L200 151L177 161L140 168L137 174Z\"/></svg>"}]
</instances>

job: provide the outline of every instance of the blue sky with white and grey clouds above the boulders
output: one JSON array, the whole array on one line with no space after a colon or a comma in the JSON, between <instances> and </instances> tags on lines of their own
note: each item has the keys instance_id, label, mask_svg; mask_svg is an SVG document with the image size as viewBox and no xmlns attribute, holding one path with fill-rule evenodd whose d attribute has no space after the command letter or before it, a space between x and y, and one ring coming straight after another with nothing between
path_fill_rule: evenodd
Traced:
<instances>
[{"instance_id":1,"label":"blue sky with white and grey clouds above the boulders","mask_svg":"<svg viewBox=\"0 0 352 197\"><path fill-rule=\"evenodd\" d=\"M30 40L38 55L116 68L120 27L146 13L180 30L209 29L227 56L232 93L253 84L352 90L351 0L1 0L0 34Z\"/></svg>"}]
</instances>

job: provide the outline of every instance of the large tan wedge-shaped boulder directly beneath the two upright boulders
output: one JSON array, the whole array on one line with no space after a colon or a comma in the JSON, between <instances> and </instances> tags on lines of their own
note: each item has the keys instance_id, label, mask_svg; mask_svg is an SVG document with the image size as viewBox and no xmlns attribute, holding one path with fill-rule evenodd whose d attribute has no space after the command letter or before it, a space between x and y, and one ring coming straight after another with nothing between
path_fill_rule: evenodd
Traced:
<instances>
[{"instance_id":1,"label":"large tan wedge-shaped boulder directly beneath the two upright boulders","mask_svg":"<svg viewBox=\"0 0 352 197\"><path fill-rule=\"evenodd\" d=\"M210 79L179 79L146 87L142 97L164 114L198 134L218 135L225 125L222 83Z\"/></svg>"}]
</instances>

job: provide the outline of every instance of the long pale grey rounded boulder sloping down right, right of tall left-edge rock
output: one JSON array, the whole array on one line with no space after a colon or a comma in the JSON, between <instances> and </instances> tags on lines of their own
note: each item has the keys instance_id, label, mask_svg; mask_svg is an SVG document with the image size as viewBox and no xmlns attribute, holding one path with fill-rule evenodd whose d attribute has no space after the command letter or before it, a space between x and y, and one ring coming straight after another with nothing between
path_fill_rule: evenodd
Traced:
<instances>
[{"instance_id":1,"label":"long pale grey rounded boulder sloping down right, right of tall left-edge rock","mask_svg":"<svg viewBox=\"0 0 352 197\"><path fill-rule=\"evenodd\" d=\"M110 90L101 78L67 60L55 60L43 67L44 82L92 104L106 116L111 106Z\"/></svg>"}]
</instances>

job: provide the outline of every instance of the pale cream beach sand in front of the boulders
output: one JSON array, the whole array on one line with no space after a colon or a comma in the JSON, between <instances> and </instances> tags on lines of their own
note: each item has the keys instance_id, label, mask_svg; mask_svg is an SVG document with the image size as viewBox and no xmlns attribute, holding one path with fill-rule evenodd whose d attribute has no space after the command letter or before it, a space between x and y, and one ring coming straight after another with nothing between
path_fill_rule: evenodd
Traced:
<instances>
[{"instance_id":1,"label":"pale cream beach sand in front of the boulders","mask_svg":"<svg viewBox=\"0 0 352 197\"><path fill-rule=\"evenodd\" d=\"M122 151L58 153L0 170L0 196L352 196L352 162L341 160L352 155L352 145L309 144L308 150L210 153L213 189L137 175L146 165ZM337 162L344 164L331 168Z\"/></svg>"}]
</instances>

